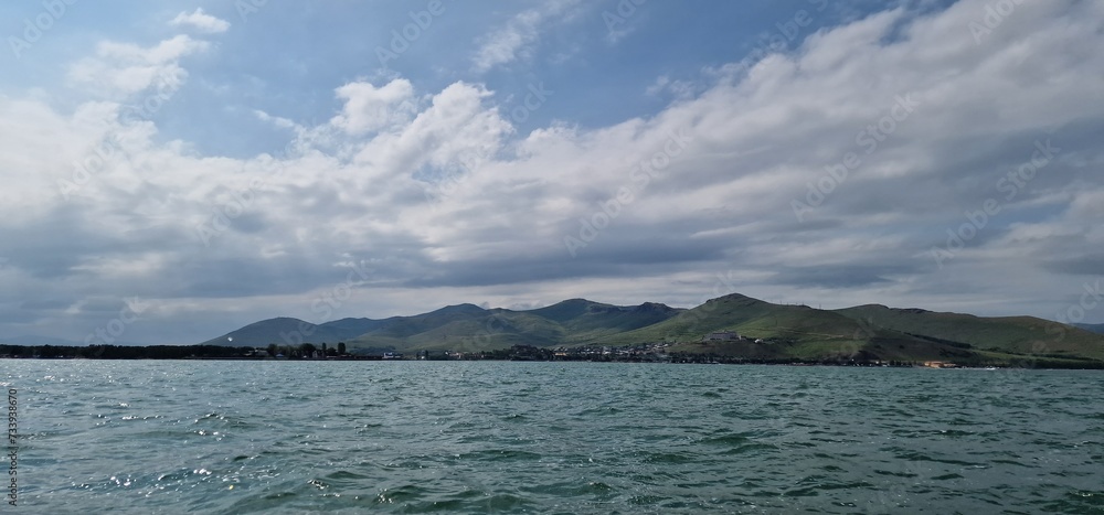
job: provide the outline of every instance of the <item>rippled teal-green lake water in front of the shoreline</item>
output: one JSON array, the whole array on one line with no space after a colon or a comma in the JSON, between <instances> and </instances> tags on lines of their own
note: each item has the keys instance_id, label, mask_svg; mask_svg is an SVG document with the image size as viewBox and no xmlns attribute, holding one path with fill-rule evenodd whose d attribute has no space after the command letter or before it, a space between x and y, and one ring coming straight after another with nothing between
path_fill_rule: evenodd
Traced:
<instances>
[{"instance_id":1,"label":"rippled teal-green lake water in front of the shoreline","mask_svg":"<svg viewBox=\"0 0 1104 515\"><path fill-rule=\"evenodd\" d=\"M0 382L22 434L0 514L1104 512L1101 372L0 360Z\"/></svg>"}]
</instances>

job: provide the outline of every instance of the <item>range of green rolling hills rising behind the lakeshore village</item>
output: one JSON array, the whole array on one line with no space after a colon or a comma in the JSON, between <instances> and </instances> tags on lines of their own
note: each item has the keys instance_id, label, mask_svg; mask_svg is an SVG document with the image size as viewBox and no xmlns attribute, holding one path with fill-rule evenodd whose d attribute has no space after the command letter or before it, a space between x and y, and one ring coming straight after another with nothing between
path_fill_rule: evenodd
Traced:
<instances>
[{"instance_id":1,"label":"range of green rolling hills rising behind the lakeshore village","mask_svg":"<svg viewBox=\"0 0 1104 515\"><path fill-rule=\"evenodd\" d=\"M1104 329L1033 316L981 318L880 304L839 310L773 304L739 293L693 309L646 302L612 305L571 299L532 310L458 304L413 316L311 324L264 320L203 344L297 345L351 351L478 352L533 345L626 346L667 343L671 352L762 360L944 361L967 364L1104 363ZM1095 332L1093 332L1095 331Z\"/></svg>"}]
</instances>

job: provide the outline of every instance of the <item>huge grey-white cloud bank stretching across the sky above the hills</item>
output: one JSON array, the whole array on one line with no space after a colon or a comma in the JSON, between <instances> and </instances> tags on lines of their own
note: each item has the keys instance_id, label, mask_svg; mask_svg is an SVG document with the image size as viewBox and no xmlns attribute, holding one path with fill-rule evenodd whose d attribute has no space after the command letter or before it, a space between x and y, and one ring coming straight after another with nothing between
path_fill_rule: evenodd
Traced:
<instances>
[{"instance_id":1,"label":"huge grey-white cloud bank stretching across the sky above the hills","mask_svg":"<svg viewBox=\"0 0 1104 515\"><path fill-rule=\"evenodd\" d=\"M597 127L519 132L486 84L353 79L327 86L332 116L317 125L256 109L291 141L240 158L120 116L120 95L151 86L147 68L184 72L205 44L105 43L71 72L93 97L75 108L0 97L0 333L79 339L132 296L156 302L150 328L320 321L316 301L357 270L370 272L335 316L574 297L692 305L733 290L1045 315L1104 248L1104 8L1023 3L976 43L985 12L874 13ZM914 111L894 120L909 95ZM59 181L108 136L107 162L63 197ZM1047 140L1054 158L1009 180ZM847 152L861 164L798 222L792 202ZM999 212L974 222L989 200ZM208 245L203 224L221 227ZM937 265L933 247L965 224L974 235ZM567 237L586 244L574 257ZM163 337L141 328L125 337Z\"/></svg>"}]
</instances>

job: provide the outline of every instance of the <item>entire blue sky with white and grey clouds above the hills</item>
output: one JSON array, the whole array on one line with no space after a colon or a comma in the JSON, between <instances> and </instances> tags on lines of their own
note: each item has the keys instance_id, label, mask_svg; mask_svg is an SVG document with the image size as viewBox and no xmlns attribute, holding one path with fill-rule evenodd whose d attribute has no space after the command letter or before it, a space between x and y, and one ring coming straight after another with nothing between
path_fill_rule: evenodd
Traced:
<instances>
[{"instance_id":1,"label":"entire blue sky with white and grey clouds above the hills","mask_svg":"<svg viewBox=\"0 0 1104 515\"><path fill-rule=\"evenodd\" d=\"M1104 2L0 3L0 340L564 299L1104 322Z\"/></svg>"}]
</instances>

